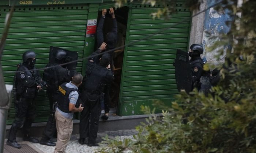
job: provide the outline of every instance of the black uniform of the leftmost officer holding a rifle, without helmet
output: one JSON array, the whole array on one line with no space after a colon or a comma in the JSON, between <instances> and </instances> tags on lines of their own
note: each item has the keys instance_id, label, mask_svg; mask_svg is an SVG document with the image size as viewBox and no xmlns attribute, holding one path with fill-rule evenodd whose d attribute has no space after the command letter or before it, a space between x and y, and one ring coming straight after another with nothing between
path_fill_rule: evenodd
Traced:
<instances>
[{"instance_id":1,"label":"black uniform of the leftmost officer holding a rifle, without helmet","mask_svg":"<svg viewBox=\"0 0 256 153\"><path fill-rule=\"evenodd\" d=\"M23 133L25 137L29 137L31 124L35 119L35 97L37 95L37 83L41 81L39 72L27 71L33 70L27 64L18 67L16 75L17 101L14 103L16 117L12 123L8 140L16 141L17 130L23 125ZM23 72L24 71L24 72ZM38 81L37 81L37 80Z\"/></svg>"}]
</instances>

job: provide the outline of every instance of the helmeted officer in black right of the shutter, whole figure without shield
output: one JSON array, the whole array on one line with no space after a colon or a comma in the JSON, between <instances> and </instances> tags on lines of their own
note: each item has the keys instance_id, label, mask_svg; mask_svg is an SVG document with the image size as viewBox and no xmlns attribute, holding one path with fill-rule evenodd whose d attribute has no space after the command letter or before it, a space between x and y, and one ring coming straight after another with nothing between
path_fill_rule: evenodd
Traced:
<instances>
[{"instance_id":1,"label":"helmeted officer in black right of the shutter, whole figure without shield","mask_svg":"<svg viewBox=\"0 0 256 153\"><path fill-rule=\"evenodd\" d=\"M190 50L188 54L191 57L189 63L191 63L192 70L192 89L197 87L197 90L200 90L200 78L202 76L204 64L200 55L203 54L203 47L199 44L192 44L189 48Z\"/></svg>"}]
</instances>

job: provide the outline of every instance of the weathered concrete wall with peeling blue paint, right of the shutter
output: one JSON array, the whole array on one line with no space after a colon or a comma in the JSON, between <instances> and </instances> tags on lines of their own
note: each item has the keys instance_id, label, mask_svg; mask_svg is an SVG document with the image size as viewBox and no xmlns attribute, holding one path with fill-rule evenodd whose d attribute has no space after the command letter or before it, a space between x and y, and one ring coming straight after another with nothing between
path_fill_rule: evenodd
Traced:
<instances>
[{"instance_id":1,"label":"weathered concrete wall with peeling blue paint, right of the shutter","mask_svg":"<svg viewBox=\"0 0 256 153\"><path fill-rule=\"evenodd\" d=\"M203 11L209 6L214 5L216 2L217 0L203 0L199 11ZM199 11L194 11L193 15ZM220 48L209 50L207 47L219 40L219 36L225 35L230 31L230 26L226 25L226 21L232 20L228 13L229 12L227 10L218 12L214 8L210 8L192 19L189 44L198 43L203 46L204 52L201 57L204 61L207 60L207 63L220 64L224 62L225 52L218 60L215 55L217 54L217 50ZM223 46L221 48L226 50L227 47L228 46Z\"/></svg>"}]
</instances>

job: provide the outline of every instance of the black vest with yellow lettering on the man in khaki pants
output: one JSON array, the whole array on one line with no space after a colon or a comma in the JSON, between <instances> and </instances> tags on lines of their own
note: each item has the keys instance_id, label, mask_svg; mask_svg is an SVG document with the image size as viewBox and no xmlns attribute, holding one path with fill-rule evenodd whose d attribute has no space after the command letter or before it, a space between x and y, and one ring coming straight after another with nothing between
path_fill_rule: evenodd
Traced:
<instances>
[{"instance_id":1,"label":"black vest with yellow lettering on the man in khaki pants","mask_svg":"<svg viewBox=\"0 0 256 153\"><path fill-rule=\"evenodd\" d=\"M66 84L67 84L67 82L62 83L59 86L59 90L58 90L59 97L58 97L58 101L57 101L58 102L58 108L61 111L65 112L65 113L73 113L72 111L69 111L69 109L68 109L68 107L69 107L68 96L71 93L71 91L77 91L78 94L79 94L79 91L75 88L66 87Z\"/></svg>"}]
</instances>

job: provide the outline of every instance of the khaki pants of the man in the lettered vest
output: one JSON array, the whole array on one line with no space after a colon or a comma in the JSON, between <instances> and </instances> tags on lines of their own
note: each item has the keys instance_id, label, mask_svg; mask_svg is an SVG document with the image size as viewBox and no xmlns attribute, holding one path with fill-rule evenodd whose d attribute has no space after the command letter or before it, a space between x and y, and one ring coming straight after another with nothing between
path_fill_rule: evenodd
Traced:
<instances>
[{"instance_id":1,"label":"khaki pants of the man in the lettered vest","mask_svg":"<svg viewBox=\"0 0 256 153\"><path fill-rule=\"evenodd\" d=\"M57 110L55 118L58 135L54 153L64 153L73 130L73 119L63 117Z\"/></svg>"}]
</instances>

